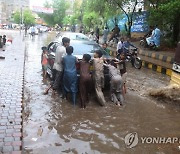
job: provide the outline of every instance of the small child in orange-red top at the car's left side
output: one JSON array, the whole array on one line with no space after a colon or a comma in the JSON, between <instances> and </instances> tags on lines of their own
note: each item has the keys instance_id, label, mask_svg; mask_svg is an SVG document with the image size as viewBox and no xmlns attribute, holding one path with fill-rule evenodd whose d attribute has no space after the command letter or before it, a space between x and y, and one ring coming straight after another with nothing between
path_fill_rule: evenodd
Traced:
<instances>
[{"instance_id":1,"label":"small child in orange-red top at the car's left side","mask_svg":"<svg viewBox=\"0 0 180 154\"><path fill-rule=\"evenodd\" d=\"M43 70L43 79L46 79L47 77L47 64L48 64L48 50L46 47L42 48L43 53L41 57L41 64L42 64L42 70Z\"/></svg>"}]
</instances>

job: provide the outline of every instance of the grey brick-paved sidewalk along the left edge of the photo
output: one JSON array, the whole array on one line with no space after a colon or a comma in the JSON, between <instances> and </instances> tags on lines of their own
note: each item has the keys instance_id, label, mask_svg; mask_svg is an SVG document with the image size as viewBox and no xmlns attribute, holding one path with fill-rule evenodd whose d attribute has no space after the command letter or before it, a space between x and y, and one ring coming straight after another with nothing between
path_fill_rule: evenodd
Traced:
<instances>
[{"instance_id":1,"label":"grey brick-paved sidewalk along the left edge of the photo","mask_svg":"<svg viewBox=\"0 0 180 154\"><path fill-rule=\"evenodd\" d=\"M0 153L21 153L24 51L19 33L0 51Z\"/></svg>"}]
</instances>

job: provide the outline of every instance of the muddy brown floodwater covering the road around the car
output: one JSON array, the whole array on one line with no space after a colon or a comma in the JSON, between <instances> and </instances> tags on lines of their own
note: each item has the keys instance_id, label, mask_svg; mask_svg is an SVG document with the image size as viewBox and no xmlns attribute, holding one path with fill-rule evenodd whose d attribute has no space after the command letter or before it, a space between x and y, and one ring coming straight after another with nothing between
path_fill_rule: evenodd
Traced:
<instances>
[{"instance_id":1,"label":"muddy brown floodwater covering the road around the car","mask_svg":"<svg viewBox=\"0 0 180 154\"><path fill-rule=\"evenodd\" d=\"M48 81L42 80L41 47L54 34L41 34L26 41L25 99L23 116L23 151L27 154L99 154L180 153L180 144L142 143L141 137L179 137L180 108L151 100L150 88L168 85L169 77L142 68L128 66L125 106L111 103L105 91L106 107L91 96L85 110L75 107L52 92L43 95ZM136 132L138 144L128 148L124 138ZM150 142L150 141L149 141Z\"/></svg>"}]
</instances>

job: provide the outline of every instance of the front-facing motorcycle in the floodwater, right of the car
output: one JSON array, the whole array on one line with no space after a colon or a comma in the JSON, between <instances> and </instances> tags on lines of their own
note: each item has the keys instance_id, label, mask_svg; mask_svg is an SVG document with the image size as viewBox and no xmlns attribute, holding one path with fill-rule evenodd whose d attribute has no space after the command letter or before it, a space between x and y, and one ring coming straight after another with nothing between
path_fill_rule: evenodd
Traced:
<instances>
[{"instance_id":1,"label":"front-facing motorcycle in the floodwater, right of the car","mask_svg":"<svg viewBox=\"0 0 180 154\"><path fill-rule=\"evenodd\" d=\"M130 61L132 66L136 69L140 69L142 67L142 60L137 55L138 48L130 47L129 49L126 49L127 52L125 54L126 61ZM120 59L120 54L117 54L117 59Z\"/></svg>"}]
</instances>

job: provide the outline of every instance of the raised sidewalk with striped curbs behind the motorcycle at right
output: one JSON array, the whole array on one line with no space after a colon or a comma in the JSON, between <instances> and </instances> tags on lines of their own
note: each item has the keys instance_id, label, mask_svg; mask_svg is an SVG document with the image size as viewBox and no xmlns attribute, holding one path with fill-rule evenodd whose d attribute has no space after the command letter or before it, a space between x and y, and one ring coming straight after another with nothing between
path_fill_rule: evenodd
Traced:
<instances>
[{"instance_id":1,"label":"raised sidewalk with striped curbs behind the motorcycle at right","mask_svg":"<svg viewBox=\"0 0 180 154\"><path fill-rule=\"evenodd\" d=\"M139 42L133 42L133 44L138 48L138 56L142 59L144 67L171 76L174 52L144 49L139 46ZM116 51L116 44L108 48Z\"/></svg>"}]
</instances>

